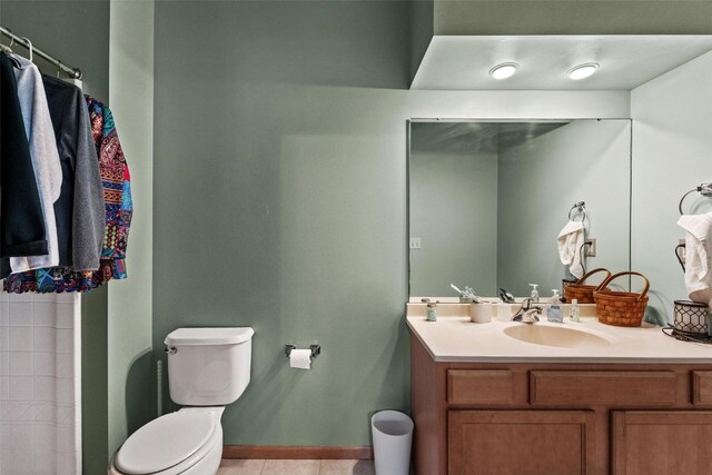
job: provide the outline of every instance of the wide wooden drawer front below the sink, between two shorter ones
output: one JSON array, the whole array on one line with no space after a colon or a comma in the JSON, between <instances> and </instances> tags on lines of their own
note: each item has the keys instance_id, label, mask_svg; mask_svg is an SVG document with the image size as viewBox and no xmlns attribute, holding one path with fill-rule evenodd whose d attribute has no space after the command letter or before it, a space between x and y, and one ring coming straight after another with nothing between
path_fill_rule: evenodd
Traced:
<instances>
[{"instance_id":1,"label":"wide wooden drawer front below the sink, between two shorter ones","mask_svg":"<svg viewBox=\"0 0 712 475\"><path fill-rule=\"evenodd\" d=\"M531 372L530 402L537 406L665 406L678 399L673 372Z\"/></svg>"}]
</instances>

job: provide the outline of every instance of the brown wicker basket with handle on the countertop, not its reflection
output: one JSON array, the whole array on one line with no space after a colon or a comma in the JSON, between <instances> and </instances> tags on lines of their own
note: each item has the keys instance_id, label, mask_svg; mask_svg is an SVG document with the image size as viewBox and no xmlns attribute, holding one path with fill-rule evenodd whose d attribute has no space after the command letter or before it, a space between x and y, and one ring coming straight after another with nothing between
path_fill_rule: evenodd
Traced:
<instances>
[{"instance_id":1,"label":"brown wicker basket with handle on the countertop, not its reflection","mask_svg":"<svg viewBox=\"0 0 712 475\"><path fill-rule=\"evenodd\" d=\"M605 288L613 279L621 276L639 276L645 280L645 288L640 294L633 291L613 291L613 290L596 290L593 293L593 298L596 301L596 314L599 315L599 321L606 325L614 325L616 327L640 327L645 315L645 307L647 306L647 289L650 288L650 280L640 273L617 273L605 279L601 284L601 288Z\"/></svg>"}]
</instances>

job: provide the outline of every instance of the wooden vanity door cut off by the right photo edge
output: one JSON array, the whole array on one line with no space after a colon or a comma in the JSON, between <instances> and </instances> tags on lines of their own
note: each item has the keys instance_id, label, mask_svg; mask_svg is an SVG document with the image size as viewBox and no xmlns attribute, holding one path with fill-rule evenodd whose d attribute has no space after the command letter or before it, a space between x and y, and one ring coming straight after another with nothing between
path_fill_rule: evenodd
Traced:
<instances>
[{"instance_id":1,"label":"wooden vanity door cut off by the right photo edge","mask_svg":"<svg viewBox=\"0 0 712 475\"><path fill-rule=\"evenodd\" d=\"M614 412L611 444L615 475L709 475L712 412Z\"/></svg>"}]
</instances>

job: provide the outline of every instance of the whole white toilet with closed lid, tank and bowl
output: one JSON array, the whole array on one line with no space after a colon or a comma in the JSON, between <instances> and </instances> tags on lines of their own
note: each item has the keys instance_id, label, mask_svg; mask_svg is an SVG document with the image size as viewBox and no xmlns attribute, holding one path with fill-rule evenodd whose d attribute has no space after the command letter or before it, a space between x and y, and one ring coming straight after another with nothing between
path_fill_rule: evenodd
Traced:
<instances>
[{"instance_id":1,"label":"whole white toilet with closed lid, tank and bowl","mask_svg":"<svg viewBox=\"0 0 712 475\"><path fill-rule=\"evenodd\" d=\"M222 456L220 416L249 383L255 331L178 328L164 342L170 398L181 406L136 431L109 475L215 475Z\"/></svg>"}]
</instances>

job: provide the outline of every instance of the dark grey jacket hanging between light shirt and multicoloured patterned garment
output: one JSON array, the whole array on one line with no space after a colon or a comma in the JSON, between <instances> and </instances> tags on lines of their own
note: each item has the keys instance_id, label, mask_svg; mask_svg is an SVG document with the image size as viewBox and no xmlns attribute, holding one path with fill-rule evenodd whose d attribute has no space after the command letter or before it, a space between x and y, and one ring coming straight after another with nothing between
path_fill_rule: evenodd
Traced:
<instances>
[{"instance_id":1,"label":"dark grey jacket hanging between light shirt and multicoloured patterned garment","mask_svg":"<svg viewBox=\"0 0 712 475\"><path fill-rule=\"evenodd\" d=\"M105 229L99 161L81 90L42 76L62 167L62 187L55 202L59 266L97 270Z\"/></svg>"}]
</instances>

